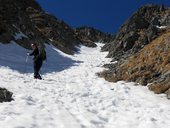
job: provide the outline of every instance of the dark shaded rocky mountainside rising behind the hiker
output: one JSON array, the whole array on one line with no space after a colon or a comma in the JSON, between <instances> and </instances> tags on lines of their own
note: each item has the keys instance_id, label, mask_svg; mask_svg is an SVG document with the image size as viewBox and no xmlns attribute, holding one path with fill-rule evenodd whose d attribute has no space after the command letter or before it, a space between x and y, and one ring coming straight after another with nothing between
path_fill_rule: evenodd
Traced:
<instances>
[{"instance_id":1,"label":"dark shaded rocky mountainside rising behind the hiker","mask_svg":"<svg viewBox=\"0 0 170 128\"><path fill-rule=\"evenodd\" d=\"M29 48L30 41L50 42L68 54L73 54L78 44L94 46L91 39L87 43L64 21L45 13L35 0L0 0L0 23L2 43L13 40Z\"/></svg>"}]
</instances>

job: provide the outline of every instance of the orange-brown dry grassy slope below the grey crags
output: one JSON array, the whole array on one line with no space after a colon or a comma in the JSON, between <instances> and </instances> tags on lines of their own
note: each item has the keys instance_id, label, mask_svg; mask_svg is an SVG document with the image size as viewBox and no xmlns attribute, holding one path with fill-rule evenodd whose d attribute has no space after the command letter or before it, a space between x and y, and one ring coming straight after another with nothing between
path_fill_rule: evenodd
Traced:
<instances>
[{"instance_id":1,"label":"orange-brown dry grassy slope below the grey crags","mask_svg":"<svg viewBox=\"0 0 170 128\"><path fill-rule=\"evenodd\" d=\"M146 45L140 52L129 57L117 66L115 74L106 75L108 81L134 81L146 85L154 83L170 71L170 29ZM153 84L150 89L156 93L170 88L170 80Z\"/></svg>"}]
</instances>

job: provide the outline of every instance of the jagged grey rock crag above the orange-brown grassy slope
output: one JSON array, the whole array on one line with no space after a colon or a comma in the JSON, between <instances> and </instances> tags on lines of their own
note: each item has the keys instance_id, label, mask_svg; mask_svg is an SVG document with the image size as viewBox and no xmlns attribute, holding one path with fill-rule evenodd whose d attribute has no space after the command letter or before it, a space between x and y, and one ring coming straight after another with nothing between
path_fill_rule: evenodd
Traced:
<instances>
[{"instance_id":1,"label":"jagged grey rock crag above the orange-brown grassy slope","mask_svg":"<svg viewBox=\"0 0 170 128\"><path fill-rule=\"evenodd\" d=\"M162 30L158 27L169 25L169 17L169 9L163 5L143 6L121 26L114 40L102 50L109 51L108 57L114 60L127 58L161 35Z\"/></svg>"}]
</instances>

